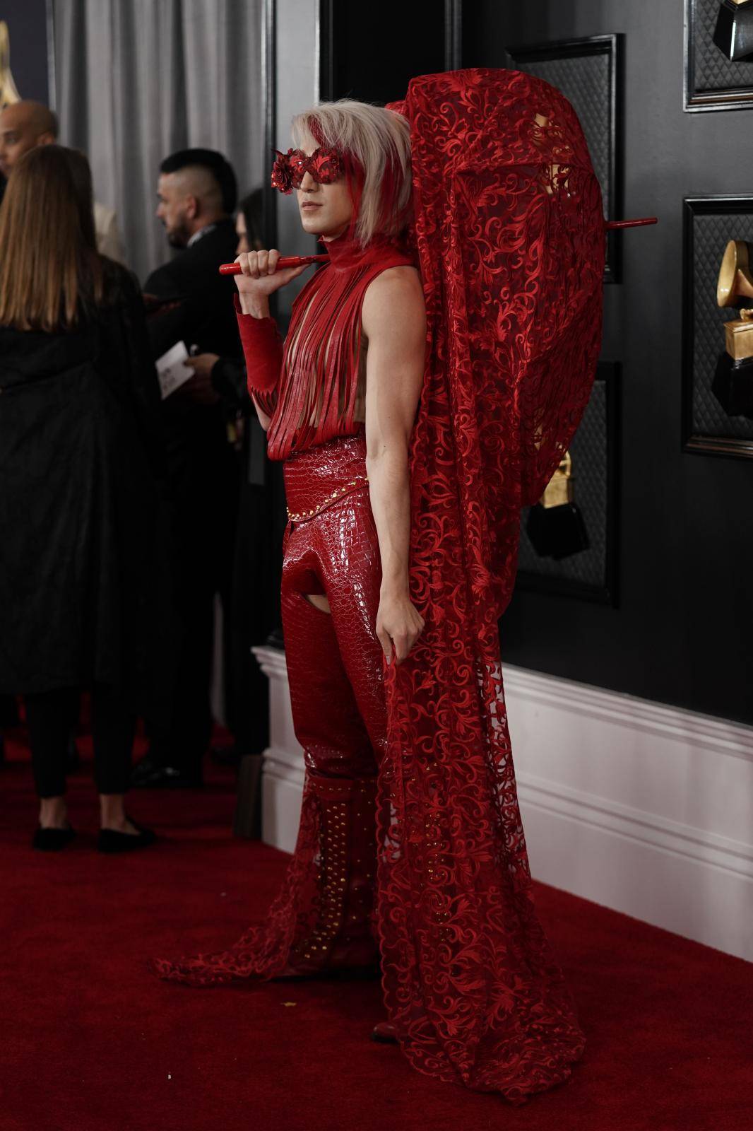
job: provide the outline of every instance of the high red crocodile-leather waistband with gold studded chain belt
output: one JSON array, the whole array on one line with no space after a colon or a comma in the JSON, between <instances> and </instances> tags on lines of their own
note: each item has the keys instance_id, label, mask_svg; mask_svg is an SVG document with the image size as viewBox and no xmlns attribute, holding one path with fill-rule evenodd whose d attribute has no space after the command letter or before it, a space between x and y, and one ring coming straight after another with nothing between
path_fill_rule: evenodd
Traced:
<instances>
[{"instance_id":1,"label":"high red crocodile-leather waistband with gold studded chain belt","mask_svg":"<svg viewBox=\"0 0 753 1131\"><path fill-rule=\"evenodd\" d=\"M285 460L283 474L291 523L304 523L347 495L365 490L369 476L363 429L355 435L336 437L294 452Z\"/></svg>"}]
</instances>

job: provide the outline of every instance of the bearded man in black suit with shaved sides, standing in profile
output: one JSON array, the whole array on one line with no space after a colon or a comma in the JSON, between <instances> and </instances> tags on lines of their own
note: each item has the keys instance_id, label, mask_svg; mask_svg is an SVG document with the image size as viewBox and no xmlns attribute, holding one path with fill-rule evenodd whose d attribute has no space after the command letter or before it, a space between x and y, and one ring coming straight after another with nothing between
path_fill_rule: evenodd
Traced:
<instances>
[{"instance_id":1,"label":"bearded man in black suit with shaved sides, standing in profile","mask_svg":"<svg viewBox=\"0 0 753 1131\"><path fill-rule=\"evenodd\" d=\"M183 342L202 354L240 356L233 307L234 283L220 276L235 259L232 218L235 174L213 149L183 149L163 161L157 218L176 254L149 275L144 292L157 300L148 321L155 359ZM136 767L133 785L196 786L209 746L209 684L214 647L214 599L226 623L231 588L240 467L228 442L226 408L210 379L196 374L163 402L170 494L173 506L173 580L180 616L180 661L172 726L152 727L149 753Z\"/></svg>"}]
</instances>

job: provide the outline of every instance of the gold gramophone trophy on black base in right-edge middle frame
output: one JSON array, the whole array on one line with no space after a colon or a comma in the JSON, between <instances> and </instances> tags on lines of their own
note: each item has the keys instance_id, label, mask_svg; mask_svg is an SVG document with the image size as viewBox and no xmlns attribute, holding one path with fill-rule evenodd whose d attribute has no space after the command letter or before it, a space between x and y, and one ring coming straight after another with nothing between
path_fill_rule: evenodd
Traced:
<instances>
[{"instance_id":1,"label":"gold gramophone trophy on black base in right-edge middle frame","mask_svg":"<svg viewBox=\"0 0 753 1131\"><path fill-rule=\"evenodd\" d=\"M753 271L751 244L730 240L717 282L717 305L739 307L739 318L725 322L727 352L719 355L712 392L729 416L753 420Z\"/></svg>"}]
</instances>

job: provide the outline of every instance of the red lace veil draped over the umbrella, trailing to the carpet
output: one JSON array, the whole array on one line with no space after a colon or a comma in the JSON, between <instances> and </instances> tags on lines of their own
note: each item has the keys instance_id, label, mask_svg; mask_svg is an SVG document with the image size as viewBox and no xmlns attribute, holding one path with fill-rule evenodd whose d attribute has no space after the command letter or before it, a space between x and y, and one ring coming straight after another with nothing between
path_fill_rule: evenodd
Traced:
<instances>
[{"instance_id":1,"label":"red lace veil draped over the umbrella, trailing to the carpet","mask_svg":"<svg viewBox=\"0 0 753 1131\"><path fill-rule=\"evenodd\" d=\"M564 1079L583 1038L529 898L497 620L520 508L594 380L601 198L571 105L540 79L430 75L389 109L410 123L429 352L410 449L426 628L387 674L383 984L416 1068L516 1100Z\"/></svg>"}]
</instances>

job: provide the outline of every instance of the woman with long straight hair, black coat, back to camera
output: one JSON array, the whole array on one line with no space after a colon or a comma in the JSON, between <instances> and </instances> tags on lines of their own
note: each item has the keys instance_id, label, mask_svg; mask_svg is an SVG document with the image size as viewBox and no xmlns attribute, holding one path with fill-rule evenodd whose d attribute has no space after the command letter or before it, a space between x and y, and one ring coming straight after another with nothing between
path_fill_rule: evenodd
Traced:
<instances>
[{"instance_id":1,"label":"woman with long straight hair, black coat, back to camera","mask_svg":"<svg viewBox=\"0 0 753 1131\"><path fill-rule=\"evenodd\" d=\"M123 798L149 682L158 404L138 284L96 251L88 162L32 149L0 209L0 692L25 700L42 851L75 835L64 767L84 689L99 851L154 839Z\"/></svg>"}]
</instances>

